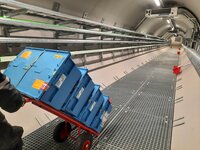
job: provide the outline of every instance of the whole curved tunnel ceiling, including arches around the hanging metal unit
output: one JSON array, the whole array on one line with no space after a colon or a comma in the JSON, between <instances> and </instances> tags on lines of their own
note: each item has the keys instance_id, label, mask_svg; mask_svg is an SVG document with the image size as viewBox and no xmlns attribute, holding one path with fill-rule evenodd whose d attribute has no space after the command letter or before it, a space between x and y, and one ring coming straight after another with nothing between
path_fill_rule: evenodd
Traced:
<instances>
[{"instance_id":1,"label":"whole curved tunnel ceiling, including arches around the hanging metal unit","mask_svg":"<svg viewBox=\"0 0 200 150\"><path fill-rule=\"evenodd\" d=\"M136 29L137 25L145 16L146 9L157 9L154 0L19 0L22 2L39 5L51 9L54 2L61 4L60 11L82 17L84 12L87 18L95 21L102 21L106 24L116 25L130 29ZM161 7L183 6L192 10L199 18L198 0L161 0ZM161 8L160 7L160 8ZM187 32L194 28L194 25L183 15L174 19L176 27L180 32ZM157 36L163 36L170 32L170 25L166 19L146 19L137 29L139 32Z\"/></svg>"}]
</instances>

